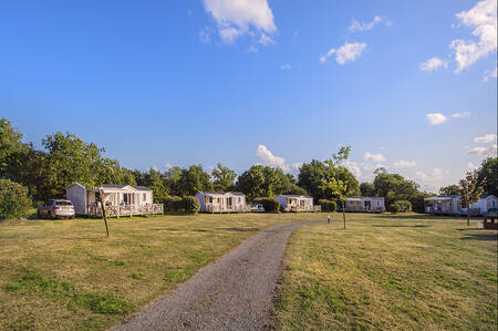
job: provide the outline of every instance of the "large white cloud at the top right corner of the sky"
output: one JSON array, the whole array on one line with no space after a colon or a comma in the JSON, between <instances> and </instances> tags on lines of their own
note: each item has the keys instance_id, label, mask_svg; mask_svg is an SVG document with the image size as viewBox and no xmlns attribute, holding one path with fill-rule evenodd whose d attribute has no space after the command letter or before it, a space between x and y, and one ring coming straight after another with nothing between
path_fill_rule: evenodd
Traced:
<instances>
[{"instance_id":1,"label":"large white cloud at the top right corner of the sky","mask_svg":"<svg viewBox=\"0 0 498 331\"><path fill-rule=\"evenodd\" d=\"M457 69L455 73L470 66L477 60L497 50L497 1L484 0L468 11L456 14L464 25L473 28L477 40L452 41Z\"/></svg>"}]
</instances>

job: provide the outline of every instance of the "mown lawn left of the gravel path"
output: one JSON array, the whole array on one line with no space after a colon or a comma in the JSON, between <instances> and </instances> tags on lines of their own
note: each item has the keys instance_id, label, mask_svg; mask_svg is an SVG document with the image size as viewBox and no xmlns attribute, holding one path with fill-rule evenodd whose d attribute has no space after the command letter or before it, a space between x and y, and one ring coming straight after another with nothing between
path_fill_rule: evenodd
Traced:
<instances>
[{"instance_id":1,"label":"mown lawn left of the gravel path","mask_svg":"<svg viewBox=\"0 0 498 331\"><path fill-rule=\"evenodd\" d=\"M105 329L260 229L320 214L0 223L0 330Z\"/></svg>"}]
</instances>

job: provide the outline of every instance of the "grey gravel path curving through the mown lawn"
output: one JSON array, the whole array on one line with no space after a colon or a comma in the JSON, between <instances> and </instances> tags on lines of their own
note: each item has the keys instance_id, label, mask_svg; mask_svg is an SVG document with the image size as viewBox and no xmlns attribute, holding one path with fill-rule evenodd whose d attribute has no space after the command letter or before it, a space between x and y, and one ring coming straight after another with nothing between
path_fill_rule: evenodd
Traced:
<instances>
[{"instance_id":1,"label":"grey gravel path curving through the mown lawn","mask_svg":"<svg viewBox=\"0 0 498 331\"><path fill-rule=\"evenodd\" d=\"M314 223L258 232L114 330L263 329L289 236Z\"/></svg>"}]
</instances>

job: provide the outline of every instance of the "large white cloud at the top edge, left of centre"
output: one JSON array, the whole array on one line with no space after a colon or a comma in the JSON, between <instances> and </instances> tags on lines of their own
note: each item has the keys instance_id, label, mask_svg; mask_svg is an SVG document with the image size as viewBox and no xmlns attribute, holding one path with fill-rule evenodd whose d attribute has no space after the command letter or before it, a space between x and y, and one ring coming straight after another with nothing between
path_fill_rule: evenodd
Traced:
<instances>
[{"instance_id":1,"label":"large white cloud at the top edge, left of centre","mask_svg":"<svg viewBox=\"0 0 498 331\"><path fill-rule=\"evenodd\" d=\"M260 34L259 42L271 43L267 33L277 31L273 12L267 0L203 0L205 10L218 24L218 32L227 43L246 33ZM271 41L271 42L270 42Z\"/></svg>"}]
</instances>

